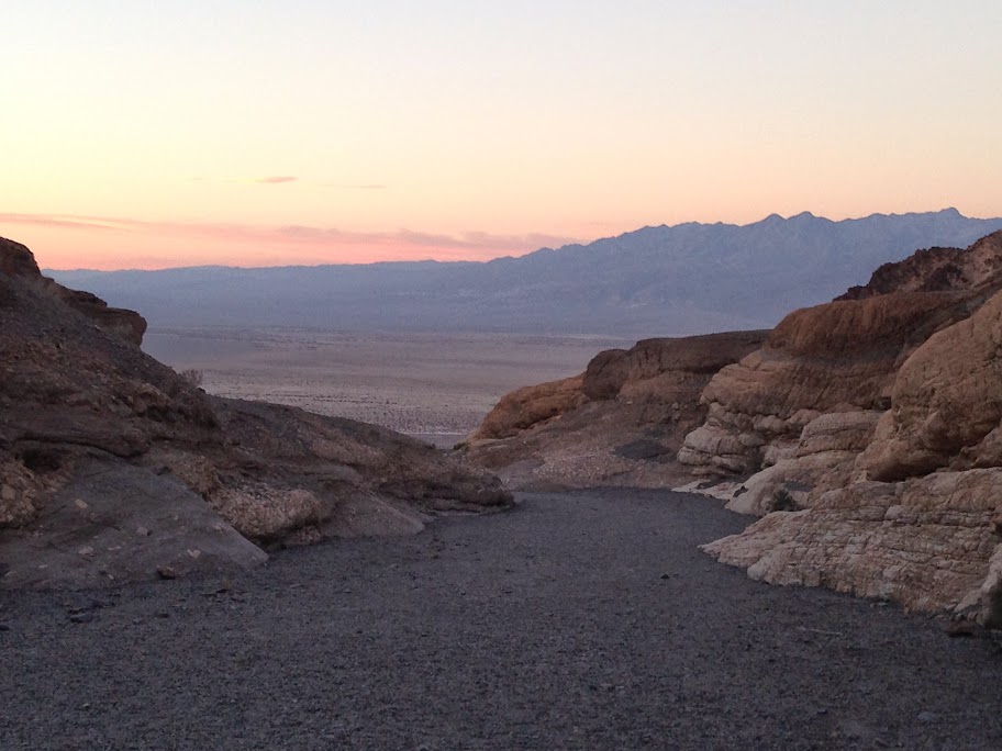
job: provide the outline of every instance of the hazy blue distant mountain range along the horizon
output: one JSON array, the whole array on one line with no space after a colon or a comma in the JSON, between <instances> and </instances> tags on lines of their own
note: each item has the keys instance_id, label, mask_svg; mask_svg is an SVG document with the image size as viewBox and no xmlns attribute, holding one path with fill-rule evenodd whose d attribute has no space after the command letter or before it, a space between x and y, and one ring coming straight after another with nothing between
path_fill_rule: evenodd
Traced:
<instances>
[{"instance_id":1,"label":"hazy blue distant mountain range along the horizon","mask_svg":"<svg viewBox=\"0 0 1002 751\"><path fill-rule=\"evenodd\" d=\"M776 324L917 248L1002 228L956 209L833 222L644 227L487 262L47 271L152 326L506 330L673 336Z\"/></svg>"}]
</instances>

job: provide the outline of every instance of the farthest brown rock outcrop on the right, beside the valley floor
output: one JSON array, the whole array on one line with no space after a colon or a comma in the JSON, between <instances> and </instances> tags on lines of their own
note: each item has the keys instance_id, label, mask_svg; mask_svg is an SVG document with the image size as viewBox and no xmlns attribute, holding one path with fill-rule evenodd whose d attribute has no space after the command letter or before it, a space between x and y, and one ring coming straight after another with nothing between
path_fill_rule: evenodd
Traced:
<instances>
[{"instance_id":1,"label":"farthest brown rock outcrop on the right, beside the valley floor","mask_svg":"<svg viewBox=\"0 0 1002 751\"><path fill-rule=\"evenodd\" d=\"M676 482L682 436L705 417L700 392L765 336L645 339L628 350L601 352L580 375L504 396L467 451L512 487Z\"/></svg>"}]
</instances>

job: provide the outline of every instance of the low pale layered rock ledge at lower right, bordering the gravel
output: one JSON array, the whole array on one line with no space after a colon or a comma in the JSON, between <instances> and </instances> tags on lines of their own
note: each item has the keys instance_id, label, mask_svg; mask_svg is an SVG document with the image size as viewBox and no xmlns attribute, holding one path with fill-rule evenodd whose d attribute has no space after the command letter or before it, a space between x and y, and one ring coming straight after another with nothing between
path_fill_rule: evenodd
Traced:
<instances>
[{"instance_id":1,"label":"low pale layered rock ledge at lower right, bordering the gravel","mask_svg":"<svg viewBox=\"0 0 1002 751\"><path fill-rule=\"evenodd\" d=\"M920 610L962 607L972 592L991 605L999 596L991 520L1000 497L998 469L859 482L816 494L808 509L769 514L703 550L773 584L828 586Z\"/></svg>"}]
</instances>

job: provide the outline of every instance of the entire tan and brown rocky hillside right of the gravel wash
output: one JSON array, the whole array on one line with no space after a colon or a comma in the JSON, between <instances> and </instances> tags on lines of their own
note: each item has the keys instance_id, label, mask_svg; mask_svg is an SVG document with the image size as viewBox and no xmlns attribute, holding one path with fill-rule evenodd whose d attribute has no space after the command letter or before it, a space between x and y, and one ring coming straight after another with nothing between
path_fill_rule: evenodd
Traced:
<instances>
[{"instance_id":1,"label":"entire tan and brown rocky hillside right of the gravel wash","mask_svg":"<svg viewBox=\"0 0 1002 751\"><path fill-rule=\"evenodd\" d=\"M642 341L498 405L514 484L665 484L765 518L705 550L1002 627L1002 233L922 250L768 333ZM676 483L678 484L678 483Z\"/></svg>"}]
</instances>

